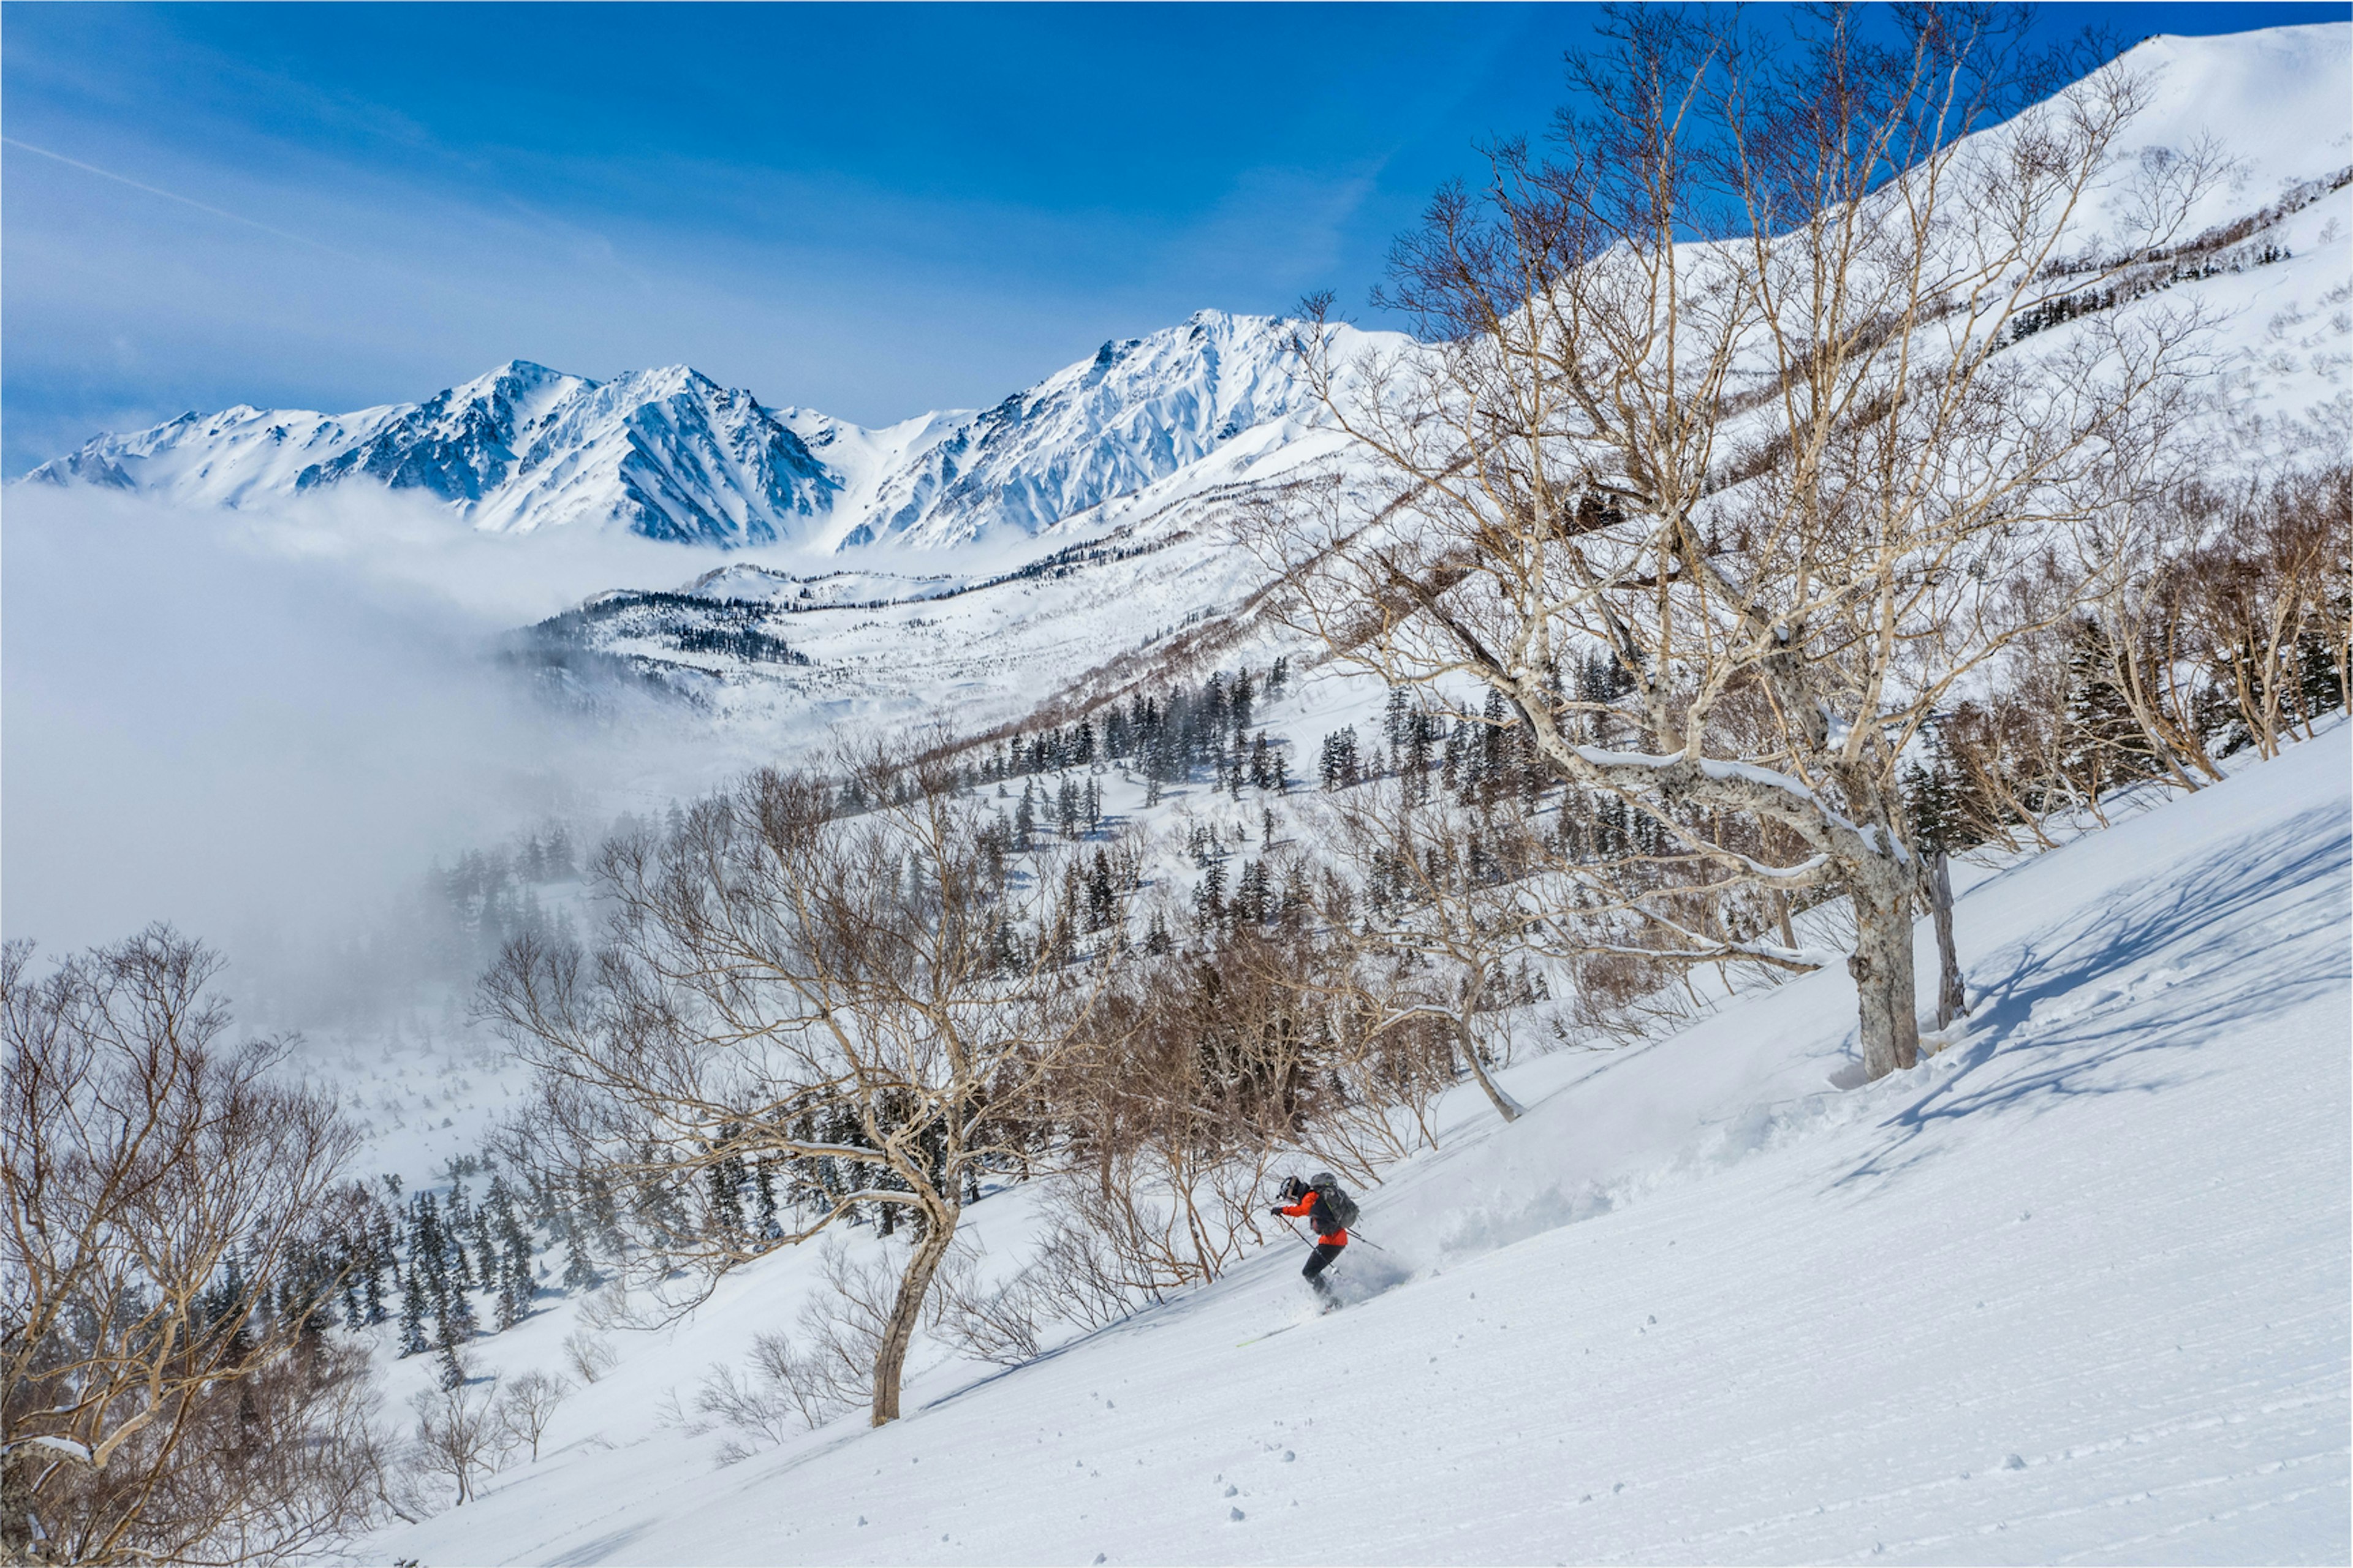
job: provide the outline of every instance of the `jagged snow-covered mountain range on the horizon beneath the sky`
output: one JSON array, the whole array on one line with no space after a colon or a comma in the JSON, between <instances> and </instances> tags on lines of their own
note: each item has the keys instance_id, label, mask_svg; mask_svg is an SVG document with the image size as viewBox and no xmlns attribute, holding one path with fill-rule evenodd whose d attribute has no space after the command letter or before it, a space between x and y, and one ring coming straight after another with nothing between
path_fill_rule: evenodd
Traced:
<instances>
[{"instance_id":1,"label":"jagged snow-covered mountain range on the horizon beneath the sky","mask_svg":"<svg viewBox=\"0 0 2353 1568\"><path fill-rule=\"evenodd\" d=\"M99 436L31 480L252 506L372 483L487 532L607 523L649 539L833 551L1035 534L1313 410L1289 332L1200 311L1104 344L984 412L868 431L671 365L588 381L513 360L414 405L233 407ZM1348 332L1351 348L1374 341Z\"/></svg>"}]
</instances>

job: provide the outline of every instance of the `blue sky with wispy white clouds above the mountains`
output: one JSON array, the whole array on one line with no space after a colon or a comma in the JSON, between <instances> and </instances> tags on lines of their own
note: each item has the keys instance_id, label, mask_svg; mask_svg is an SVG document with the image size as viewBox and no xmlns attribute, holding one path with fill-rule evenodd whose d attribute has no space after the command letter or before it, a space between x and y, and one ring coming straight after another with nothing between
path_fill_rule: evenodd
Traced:
<instances>
[{"instance_id":1,"label":"blue sky with wispy white clouds above the mountains","mask_svg":"<svg viewBox=\"0 0 2353 1568\"><path fill-rule=\"evenodd\" d=\"M2348 5L2054 5L2221 33ZM1360 306L1586 7L0 5L0 466L506 358L880 424ZM68 162L71 160L71 162Z\"/></svg>"}]
</instances>

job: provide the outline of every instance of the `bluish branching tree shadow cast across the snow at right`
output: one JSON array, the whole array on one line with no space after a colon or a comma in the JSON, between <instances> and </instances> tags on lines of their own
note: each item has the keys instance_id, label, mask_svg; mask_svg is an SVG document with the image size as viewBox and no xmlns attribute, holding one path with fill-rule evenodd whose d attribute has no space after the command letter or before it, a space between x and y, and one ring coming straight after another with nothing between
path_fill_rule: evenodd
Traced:
<instances>
[{"instance_id":1,"label":"bluish branching tree shadow cast across the snow at right","mask_svg":"<svg viewBox=\"0 0 2353 1568\"><path fill-rule=\"evenodd\" d=\"M2195 1052L2344 984L2348 850L2341 812L2304 812L2024 942L1977 1003L1955 1045L1960 1064L1889 1116L1887 1142L1833 1187L1932 1158L1937 1147L1922 1137L1937 1123L2153 1095L2217 1071ZM2165 970L2144 970L2158 956ZM2165 984L2167 972L2179 979ZM2068 1010L2073 994L2082 1001ZM2141 1010L2151 996L2162 996L2162 1022ZM2042 1019L2038 1005L2047 1005Z\"/></svg>"}]
</instances>

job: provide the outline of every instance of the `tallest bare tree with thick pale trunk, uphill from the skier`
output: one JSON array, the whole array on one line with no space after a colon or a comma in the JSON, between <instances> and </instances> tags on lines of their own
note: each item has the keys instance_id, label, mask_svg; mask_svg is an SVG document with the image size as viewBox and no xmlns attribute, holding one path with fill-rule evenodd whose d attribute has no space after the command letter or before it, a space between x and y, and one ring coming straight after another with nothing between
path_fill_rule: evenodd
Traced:
<instances>
[{"instance_id":1,"label":"tallest bare tree with thick pale trunk, uphill from the skier","mask_svg":"<svg viewBox=\"0 0 2353 1568\"><path fill-rule=\"evenodd\" d=\"M2146 89L2118 66L2019 108L2040 78L2000 14L1887 21L1880 47L1805 12L1774 52L1741 14L1614 12L1572 66L1593 113L1562 118L1560 155L1492 148L1487 186L1398 242L1384 299L1424 344L1344 363L1311 301L1301 356L1372 494L1334 478L1247 530L1344 659L1501 692L1558 777L1687 855L1845 892L1873 1076L1918 1052L1929 890L1899 758L1969 671L2073 610L2092 525L2153 483L2200 327L2021 323L2129 292L2217 174L2198 151L2120 165ZM1595 650L1621 699L1567 687ZM1718 845L1694 810L1798 857Z\"/></svg>"}]
</instances>

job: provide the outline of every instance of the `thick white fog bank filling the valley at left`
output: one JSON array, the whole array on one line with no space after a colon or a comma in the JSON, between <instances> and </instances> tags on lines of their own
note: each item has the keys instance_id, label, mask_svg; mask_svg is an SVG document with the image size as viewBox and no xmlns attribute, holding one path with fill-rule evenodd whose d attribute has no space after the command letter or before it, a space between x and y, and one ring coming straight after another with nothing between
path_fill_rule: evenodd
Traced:
<instances>
[{"instance_id":1,"label":"thick white fog bank filling the valley at left","mask_svg":"<svg viewBox=\"0 0 2353 1568\"><path fill-rule=\"evenodd\" d=\"M254 516L26 485L0 530L0 932L47 951L162 918L266 965L435 857L758 760L642 699L553 711L496 662L504 631L675 586L701 551L376 497Z\"/></svg>"}]
</instances>

